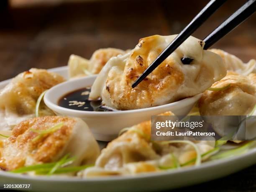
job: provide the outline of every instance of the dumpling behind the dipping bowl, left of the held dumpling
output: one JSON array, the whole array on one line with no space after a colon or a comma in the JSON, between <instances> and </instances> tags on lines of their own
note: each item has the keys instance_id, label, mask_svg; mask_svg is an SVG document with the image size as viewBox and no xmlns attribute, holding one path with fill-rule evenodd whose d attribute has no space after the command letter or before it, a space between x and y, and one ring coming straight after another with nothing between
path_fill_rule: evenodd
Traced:
<instances>
[{"instance_id":1,"label":"dumpling behind the dipping bowl, left of the held dumpling","mask_svg":"<svg viewBox=\"0 0 256 192\"><path fill-rule=\"evenodd\" d=\"M115 48L98 49L90 60L71 55L68 61L69 78L98 74L111 57L124 53L125 51Z\"/></svg>"}]
</instances>

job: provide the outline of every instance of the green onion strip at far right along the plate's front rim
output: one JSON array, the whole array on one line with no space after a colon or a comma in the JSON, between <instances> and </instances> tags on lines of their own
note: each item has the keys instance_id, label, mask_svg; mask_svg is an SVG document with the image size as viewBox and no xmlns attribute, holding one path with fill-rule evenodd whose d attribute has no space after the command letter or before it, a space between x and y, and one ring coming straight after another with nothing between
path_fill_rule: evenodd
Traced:
<instances>
[{"instance_id":1,"label":"green onion strip at far right along the plate's front rim","mask_svg":"<svg viewBox=\"0 0 256 192\"><path fill-rule=\"evenodd\" d=\"M226 158L226 157L236 156L236 155L243 154L243 153L245 153L245 152L248 151L248 149L251 147L251 145L252 145L253 142L254 142L254 141L250 141L250 142L244 144L244 145L241 146L241 147L234 148L234 149L230 149L230 150L228 150L228 151L225 151L225 152L216 154L216 155L214 155L214 156L211 156L210 159L211 159L211 160L223 159L223 158Z\"/></svg>"}]
</instances>

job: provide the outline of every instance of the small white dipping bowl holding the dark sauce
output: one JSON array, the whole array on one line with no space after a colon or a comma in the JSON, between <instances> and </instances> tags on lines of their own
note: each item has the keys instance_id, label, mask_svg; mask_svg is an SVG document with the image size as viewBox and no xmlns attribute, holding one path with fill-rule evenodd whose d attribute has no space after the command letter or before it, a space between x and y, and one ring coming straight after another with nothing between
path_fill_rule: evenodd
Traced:
<instances>
[{"instance_id":1,"label":"small white dipping bowl holding the dark sauce","mask_svg":"<svg viewBox=\"0 0 256 192\"><path fill-rule=\"evenodd\" d=\"M58 84L46 92L44 102L57 115L82 118L91 129L95 139L99 141L112 141L118 136L121 129L150 120L152 115L159 115L166 111L172 111L175 115L187 115L202 95L195 95L157 107L111 112L72 110L58 105L62 96L91 86L96 77L97 75L82 77Z\"/></svg>"}]
</instances>

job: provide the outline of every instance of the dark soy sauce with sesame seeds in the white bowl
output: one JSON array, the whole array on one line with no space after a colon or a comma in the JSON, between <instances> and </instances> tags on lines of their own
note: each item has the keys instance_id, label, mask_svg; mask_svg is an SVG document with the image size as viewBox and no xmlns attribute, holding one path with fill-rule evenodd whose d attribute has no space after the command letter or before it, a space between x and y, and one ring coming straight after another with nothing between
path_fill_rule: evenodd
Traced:
<instances>
[{"instance_id":1,"label":"dark soy sauce with sesame seeds in the white bowl","mask_svg":"<svg viewBox=\"0 0 256 192\"><path fill-rule=\"evenodd\" d=\"M101 100L88 100L91 87L82 88L62 96L58 105L63 108L81 111L112 111L101 106Z\"/></svg>"}]
</instances>

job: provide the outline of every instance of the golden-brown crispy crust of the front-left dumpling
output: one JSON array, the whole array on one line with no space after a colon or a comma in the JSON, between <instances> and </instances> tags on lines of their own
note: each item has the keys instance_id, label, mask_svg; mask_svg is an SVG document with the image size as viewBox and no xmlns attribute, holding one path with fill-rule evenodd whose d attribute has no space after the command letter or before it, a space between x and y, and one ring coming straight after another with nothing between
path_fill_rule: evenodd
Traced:
<instances>
[{"instance_id":1,"label":"golden-brown crispy crust of the front-left dumpling","mask_svg":"<svg viewBox=\"0 0 256 192\"><path fill-rule=\"evenodd\" d=\"M32 141L39 133L31 129L43 131L61 122L64 125L60 129ZM12 136L5 141L1 149L0 168L13 170L26 164L56 160L71 136L74 123L74 119L60 116L44 116L21 122L13 128Z\"/></svg>"}]
</instances>

